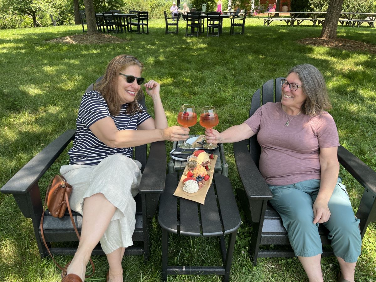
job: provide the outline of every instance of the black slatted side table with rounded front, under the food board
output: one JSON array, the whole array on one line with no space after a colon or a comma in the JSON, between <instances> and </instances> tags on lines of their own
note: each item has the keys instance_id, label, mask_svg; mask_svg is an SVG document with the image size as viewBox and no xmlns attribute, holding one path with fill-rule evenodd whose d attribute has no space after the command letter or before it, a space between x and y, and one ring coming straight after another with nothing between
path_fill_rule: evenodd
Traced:
<instances>
[{"instance_id":1,"label":"black slatted side table with rounded front, under the food board","mask_svg":"<svg viewBox=\"0 0 376 282\"><path fill-rule=\"evenodd\" d=\"M179 182L178 173L166 176L165 191L159 202L158 223L162 227L162 279L167 275L219 274L229 281L233 250L241 219L227 177L215 173L206 194L205 205L173 195ZM168 233L183 236L219 236L223 266L168 266ZM224 242L224 235L229 241Z\"/></svg>"}]
</instances>

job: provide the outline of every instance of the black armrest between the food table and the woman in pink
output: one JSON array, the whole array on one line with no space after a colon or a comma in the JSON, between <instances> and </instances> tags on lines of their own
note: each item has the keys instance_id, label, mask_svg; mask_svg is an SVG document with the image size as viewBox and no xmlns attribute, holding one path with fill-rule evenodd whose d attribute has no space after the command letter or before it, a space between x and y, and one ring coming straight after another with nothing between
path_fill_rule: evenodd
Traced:
<instances>
[{"instance_id":1,"label":"black armrest between the food table and the woman in pink","mask_svg":"<svg viewBox=\"0 0 376 282\"><path fill-rule=\"evenodd\" d=\"M249 199L271 199L271 191L249 154L246 141L233 143L235 163Z\"/></svg>"}]
</instances>

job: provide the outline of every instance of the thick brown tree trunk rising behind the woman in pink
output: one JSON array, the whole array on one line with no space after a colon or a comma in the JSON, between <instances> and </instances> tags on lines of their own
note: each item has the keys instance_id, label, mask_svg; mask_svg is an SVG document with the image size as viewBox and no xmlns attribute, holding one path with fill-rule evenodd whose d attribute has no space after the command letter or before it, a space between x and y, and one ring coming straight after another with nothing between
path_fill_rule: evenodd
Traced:
<instances>
[{"instance_id":1,"label":"thick brown tree trunk rising behind the woman in pink","mask_svg":"<svg viewBox=\"0 0 376 282\"><path fill-rule=\"evenodd\" d=\"M320 38L334 39L337 38L338 20L342 11L343 0L331 0L325 15L323 29Z\"/></svg>"}]
</instances>

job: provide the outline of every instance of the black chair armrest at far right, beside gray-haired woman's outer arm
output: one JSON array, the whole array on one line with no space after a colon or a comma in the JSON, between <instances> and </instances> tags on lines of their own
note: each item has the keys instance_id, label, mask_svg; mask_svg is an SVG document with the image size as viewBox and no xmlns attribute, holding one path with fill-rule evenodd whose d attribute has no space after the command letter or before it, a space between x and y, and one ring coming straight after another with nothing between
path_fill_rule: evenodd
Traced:
<instances>
[{"instance_id":1,"label":"black chair armrest at far right, beside gray-haired woman's outer arm","mask_svg":"<svg viewBox=\"0 0 376 282\"><path fill-rule=\"evenodd\" d=\"M365 188L376 196L376 172L344 147L338 147L338 161Z\"/></svg>"}]
</instances>

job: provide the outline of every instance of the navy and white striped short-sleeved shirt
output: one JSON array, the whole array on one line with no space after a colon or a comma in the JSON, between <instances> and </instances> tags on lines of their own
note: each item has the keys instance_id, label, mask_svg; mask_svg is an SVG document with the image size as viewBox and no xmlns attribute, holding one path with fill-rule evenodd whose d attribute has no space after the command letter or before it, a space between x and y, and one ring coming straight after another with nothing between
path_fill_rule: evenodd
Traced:
<instances>
[{"instance_id":1,"label":"navy and white striped short-sleeved shirt","mask_svg":"<svg viewBox=\"0 0 376 282\"><path fill-rule=\"evenodd\" d=\"M133 156L133 147L111 148L100 141L89 129L96 121L111 117L118 130L137 130L137 126L150 118L142 105L141 112L134 115L126 114L128 104L121 107L120 114L112 116L106 100L98 91L89 91L82 96L81 105L76 120L76 136L73 147L68 151L69 164L97 165L102 159L114 154Z\"/></svg>"}]
</instances>

